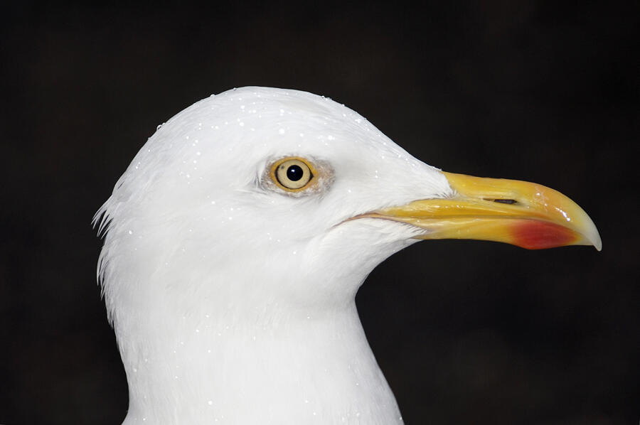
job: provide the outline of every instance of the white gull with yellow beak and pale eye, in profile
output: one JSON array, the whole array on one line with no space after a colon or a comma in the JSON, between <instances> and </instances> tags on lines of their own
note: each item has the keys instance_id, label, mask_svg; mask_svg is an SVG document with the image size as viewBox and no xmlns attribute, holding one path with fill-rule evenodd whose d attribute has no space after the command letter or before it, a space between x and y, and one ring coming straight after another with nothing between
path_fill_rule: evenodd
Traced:
<instances>
[{"instance_id":1,"label":"white gull with yellow beak and pale eye, in profile","mask_svg":"<svg viewBox=\"0 0 640 425\"><path fill-rule=\"evenodd\" d=\"M402 424L355 296L420 240L602 243L535 183L446 173L328 97L243 87L158 127L94 217L123 424Z\"/></svg>"}]
</instances>

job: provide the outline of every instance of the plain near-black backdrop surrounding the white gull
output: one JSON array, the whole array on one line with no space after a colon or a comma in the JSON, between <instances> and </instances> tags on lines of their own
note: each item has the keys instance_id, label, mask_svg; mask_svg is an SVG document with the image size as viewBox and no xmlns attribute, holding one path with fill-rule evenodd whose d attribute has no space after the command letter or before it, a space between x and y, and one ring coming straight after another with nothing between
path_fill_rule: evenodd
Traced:
<instances>
[{"instance_id":1,"label":"plain near-black backdrop surrounding the white gull","mask_svg":"<svg viewBox=\"0 0 640 425\"><path fill-rule=\"evenodd\" d=\"M363 326L407 424L637 424L638 2L3 6L0 423L119 424L93 213L156 126L243 85L326 95L446 171L580 203L604 249L422 242Z\"/></svg>"}]
</instances>

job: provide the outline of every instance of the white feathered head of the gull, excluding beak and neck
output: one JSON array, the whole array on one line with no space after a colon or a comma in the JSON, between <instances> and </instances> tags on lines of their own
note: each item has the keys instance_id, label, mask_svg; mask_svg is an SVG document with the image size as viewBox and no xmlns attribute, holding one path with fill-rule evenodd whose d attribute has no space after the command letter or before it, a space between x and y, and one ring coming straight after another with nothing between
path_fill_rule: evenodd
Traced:
<instances>
[{"instance_id":1,"label":"white feathered head of the gull, excluding beak and neck","mask_svg":"<svg viewBox=\"0 0 640 425\"><path fill-rule=\"evenodd\" d=\"M361 216L453 195L444 174L329 98L262 87L208 97L159 127L99 212L107 305L117 320L131 289L114 275L138 272L166 282L149 290L169 303L228 291L305 312L349 302L424 232Z\"/></svg>"}]
</instances>

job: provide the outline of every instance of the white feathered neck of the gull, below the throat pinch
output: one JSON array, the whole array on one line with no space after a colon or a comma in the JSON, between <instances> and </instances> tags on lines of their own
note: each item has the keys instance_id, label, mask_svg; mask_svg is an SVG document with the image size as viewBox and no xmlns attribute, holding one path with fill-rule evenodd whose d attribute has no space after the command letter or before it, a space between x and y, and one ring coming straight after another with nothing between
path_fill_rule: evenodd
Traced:
<instances>
[{"instance_id":1,"label":"white feathered neck of the gull, below the throat pinch","mask_svg":"<svg viewBox=\"0 0 640 425\"><path fill-rule=\"evenodd\" d=\"M124 424L402 423L353 302L319 317L220 316L142 319L146 338L120 341Z\"/></svg>"}]
</instances>

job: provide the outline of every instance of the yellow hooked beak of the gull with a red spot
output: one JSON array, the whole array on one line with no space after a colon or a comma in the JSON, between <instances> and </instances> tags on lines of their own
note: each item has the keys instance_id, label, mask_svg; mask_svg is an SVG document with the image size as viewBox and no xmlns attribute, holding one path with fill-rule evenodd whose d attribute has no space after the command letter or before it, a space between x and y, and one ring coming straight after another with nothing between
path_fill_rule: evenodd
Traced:
<instances>
[{"instance_id":1,"label":"yellow hooked beak of the gull with a red spot","mask_svg":"<svg viewBox=\"0 0 640 425\"><path fill-rule=\"evenodd\" d=\"M417 239L476 239L526 249L602 242L587 213L562 193L536 183L443 173L456 195L416 200L367 214L424 230Z\"/></svg>"}]
</instances>

